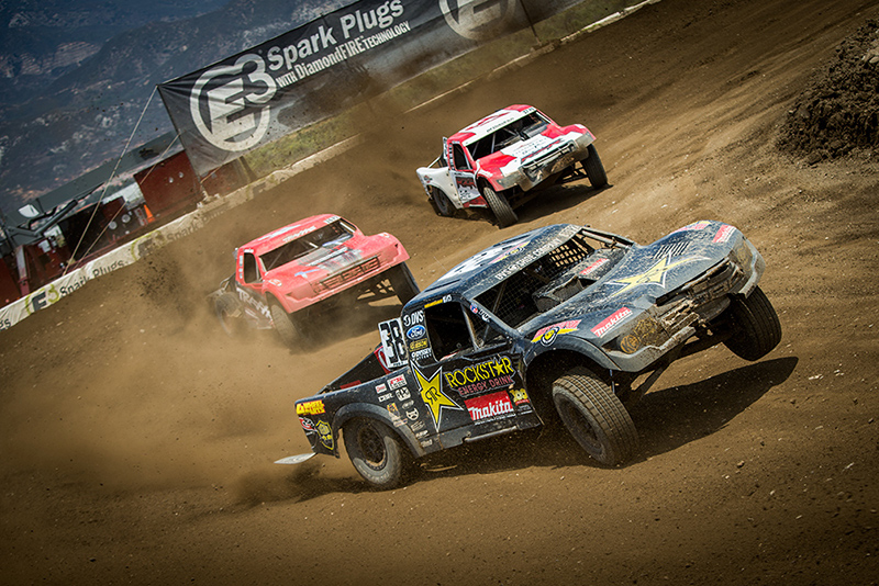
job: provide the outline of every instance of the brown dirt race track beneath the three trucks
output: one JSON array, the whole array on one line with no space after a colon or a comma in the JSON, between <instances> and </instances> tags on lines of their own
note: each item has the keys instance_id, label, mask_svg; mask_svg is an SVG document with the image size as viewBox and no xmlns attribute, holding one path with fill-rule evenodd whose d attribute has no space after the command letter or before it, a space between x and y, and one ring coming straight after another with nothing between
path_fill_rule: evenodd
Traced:
<instances>
[{"instance_id":1,"label":"brown dirt race track beneath the three trucks","mask_svg":"<svg viewBox=\"0 0 879 586\"><path fill-rule=\"evenodd\" d=\"M774 146L812 71L877 16L866 0L664 0L389 115L364 147L0 334L0 583L877 584L879 161ZM587 124L612 187L558 188L501 232L436 217L415 167L516 102ZM449 452L389 493L346 459L275 466L308 450L292 401L397 307L291 353L224 338L201 300L236 245L327 211L397 235L423 283L541 225L646 243L722 219L764 253L785 336L757 363L719 347L669 369L632 414L624 467L552 433Z\"/></svg>"}]
</instances>

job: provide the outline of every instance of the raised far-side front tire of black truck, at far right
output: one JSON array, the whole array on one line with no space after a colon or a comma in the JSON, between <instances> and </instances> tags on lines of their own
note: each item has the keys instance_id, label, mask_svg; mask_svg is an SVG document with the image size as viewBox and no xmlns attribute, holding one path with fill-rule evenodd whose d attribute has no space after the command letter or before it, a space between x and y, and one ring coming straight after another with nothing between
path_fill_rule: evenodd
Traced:
<instances>
[{"instance_id":1,"label":"raised far-side front tire of black truck, at far right","mask_svg":"<svg viewBox=\"0 0 879 586\"><path fill-rule=\"evenodd\" d=\"M735 356L759 360L781 341L778 314L760 288L755 289L749 297L733 297L726 312L735 334L724 345Z\"/></svg>"}]
</instances>

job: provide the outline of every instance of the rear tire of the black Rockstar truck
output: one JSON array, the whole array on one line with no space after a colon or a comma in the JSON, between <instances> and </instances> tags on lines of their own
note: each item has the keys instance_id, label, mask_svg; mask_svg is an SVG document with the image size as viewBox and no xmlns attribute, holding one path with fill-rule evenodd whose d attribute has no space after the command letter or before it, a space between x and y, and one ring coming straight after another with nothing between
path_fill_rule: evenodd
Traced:
<instances>
[{"instance_id":1,"label":"rear tire of the black Rockstar truck","mask_svg":"<svg viewBox=\"0 0 879 586\"><path fill-rule=\"evenodd\" d=\"M382 489L402 482L409 454L388 426L357 418L346 422L342 431L348 458L366 482Z\"/></svg>"}]
</instances>

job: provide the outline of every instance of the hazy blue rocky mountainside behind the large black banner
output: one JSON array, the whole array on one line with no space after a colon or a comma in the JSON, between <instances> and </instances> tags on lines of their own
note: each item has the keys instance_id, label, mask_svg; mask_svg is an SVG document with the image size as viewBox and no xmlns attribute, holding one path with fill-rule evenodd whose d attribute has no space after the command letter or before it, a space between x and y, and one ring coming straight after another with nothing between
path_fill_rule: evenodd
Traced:
<instances>
[{"instance_id":1,"label":"hazy blue rocky mountainside behind the large black banner","mask_svg":"<svg viewBox=\"0 0 879 586\"><path fill-rule=\"evenodd\" d=\"M142 113L132 146L170 131L158 95L152 95L156 83L344 3L0 3L0 206L18 206L119 156Z\"/></svg>"}]
</instances>

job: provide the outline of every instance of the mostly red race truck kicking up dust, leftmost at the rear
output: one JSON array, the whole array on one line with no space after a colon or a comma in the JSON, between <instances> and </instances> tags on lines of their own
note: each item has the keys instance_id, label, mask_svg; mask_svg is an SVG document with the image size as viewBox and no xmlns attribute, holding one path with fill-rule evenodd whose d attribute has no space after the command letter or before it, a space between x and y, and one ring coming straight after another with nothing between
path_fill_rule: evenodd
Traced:
<instances>
[{"instance_id":1,"label":"mostly red race truck kicking up dust, leftmost at the rear","mask_svg":"<svg viewBox=\"0 0 879 586\"><path fill-rule=\"evenodd\" d=\"M316 215L236 248L235 273L210 300L226 334L274 327L294 345L321 309L361 297L396 295L402 304L414 297L408 259L388 233L366 236L337 215Z\"/></svg>"}]
</instances>

